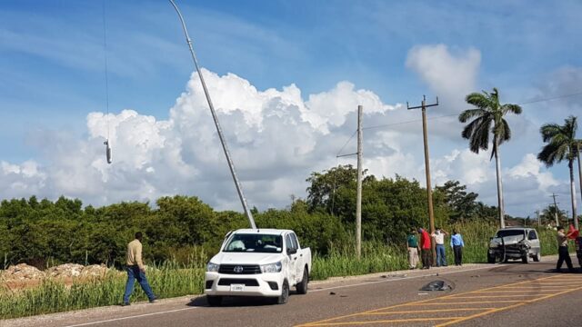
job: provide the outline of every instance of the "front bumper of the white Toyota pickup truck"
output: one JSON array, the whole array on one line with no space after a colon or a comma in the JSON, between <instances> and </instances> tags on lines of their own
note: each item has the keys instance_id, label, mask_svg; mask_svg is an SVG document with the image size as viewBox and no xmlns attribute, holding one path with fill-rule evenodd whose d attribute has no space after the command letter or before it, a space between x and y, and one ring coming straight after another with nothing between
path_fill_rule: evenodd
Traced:
<instances>
[{"instance_id":1,"label":"front bumper of the white Toyota pickup truck","mask_svg":"<svg viewBox=\"0 0 582 327\"><path fill-rule=\"evenodd\" d=\"M284 279L282 272L253 274L206 272L204 292L206 295L276 297L281 295Z\"/></svg>"}]
</instances>

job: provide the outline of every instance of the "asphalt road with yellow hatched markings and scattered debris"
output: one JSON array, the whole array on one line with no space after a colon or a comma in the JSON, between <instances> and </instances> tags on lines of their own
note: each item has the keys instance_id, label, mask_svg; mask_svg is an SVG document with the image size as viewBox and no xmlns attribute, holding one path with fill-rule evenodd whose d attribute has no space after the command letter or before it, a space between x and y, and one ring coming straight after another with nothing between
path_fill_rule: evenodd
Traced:
<instances>
[{"instance_id":1,"label":"asphalt road with yellow hatched markings and scattered debris","mask_svg":"<svg viewBox=\"0 0 582 327\"><path fill-rule=\"evenodd\" d=\"M573 260L577 263L577 260ZM582 273L555 273L541 263L467 264L311 282L285 305L204 296L0 321L8 326L578 326ZM438 275L437 275L438 274ZM447 291L422 292L442 280Z\"/></svg>"}]
</instances>

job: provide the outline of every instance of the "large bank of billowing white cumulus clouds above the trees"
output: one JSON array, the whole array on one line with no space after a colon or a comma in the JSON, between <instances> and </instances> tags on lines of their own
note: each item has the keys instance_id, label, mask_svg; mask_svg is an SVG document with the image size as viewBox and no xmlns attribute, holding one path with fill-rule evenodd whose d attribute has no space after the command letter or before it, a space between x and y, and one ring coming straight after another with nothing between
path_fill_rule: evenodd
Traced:
<instances>
[{"instance_id":1,"label":"large bank of billowing white cumulus clouds above the trees","mask_svg":"<svg viewBox=\"0 0 582 327\"><path fill-rule=\"evenodd\" d=\"M406 115L400 104L385 104L349 82L304 100L295 84L261 91L236 74L204 73L248 203L261 209L284 207L292 194L304 197L309 173L356 163L355 157L336 159L336 154L356 130L358 104L364 105L365 125L394 123ZM397 173L425 183L420 124L371 128L364 134L369 173ZM107 136L112 164L105 160ZM197 74L192 74L166 120L131 109L90 113L82 138L66 131L45 131L37 137L45 140L42 160L0 162L3 198L35 194L55 199L63 194L101 205L190 194L217 209L240 210ZM343 154L356 152L355 141L346 144ZM459 180L480 193L481 200L496 203L495 165L489 154L452 146L431 158L431 164L433 184ZM545 197L545 190L558 184L533 154L505 169L504 182L507 206L515 211L528 205L515 194Z\"/></svg>"}]
</instances>

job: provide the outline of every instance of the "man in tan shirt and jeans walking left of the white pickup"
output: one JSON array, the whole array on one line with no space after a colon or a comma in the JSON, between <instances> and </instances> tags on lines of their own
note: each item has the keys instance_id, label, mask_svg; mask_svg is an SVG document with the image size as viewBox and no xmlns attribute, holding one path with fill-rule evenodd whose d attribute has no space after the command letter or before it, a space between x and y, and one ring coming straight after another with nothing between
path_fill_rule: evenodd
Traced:
<instances>
[{"instance_id":1,"label":"man in tan shirt and jeans walking left of the white pickup","mask_svg":"<svg viewBox=\"0 0 582 327\"><path fill-rule=\"evenodd\" d=\"M127 282L125 283L124 302L122 305L129 305L129 296L134 292L135 280L139 282L142 290L146 292L150 303L156 302L156 296L152 292L146 278L146 266L142 262L142 233L135 233L135 240L127 244L126 267Z\"/></svg>"}]
</instances>

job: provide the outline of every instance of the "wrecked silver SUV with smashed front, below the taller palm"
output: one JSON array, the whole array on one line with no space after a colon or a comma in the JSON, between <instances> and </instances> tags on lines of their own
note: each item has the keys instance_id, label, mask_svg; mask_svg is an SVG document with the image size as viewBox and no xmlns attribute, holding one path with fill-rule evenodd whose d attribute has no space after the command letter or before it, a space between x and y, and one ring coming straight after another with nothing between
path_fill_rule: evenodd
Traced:
<instances>
[{"instance_id":1,"label":"wrecked silver SUV with smashed front, below the taller palm","mask_svg":"<svg viewBox=\"0 0 582 327\"><path fill-rule=\"evenodd\" d=\"M537 231L527 227L507 227L497 230L489 241L487 262L497 260L507 262L509 259L528 263L529 258L538 262L541 258L541 248Z\"/></svg>"}]
</instances>

